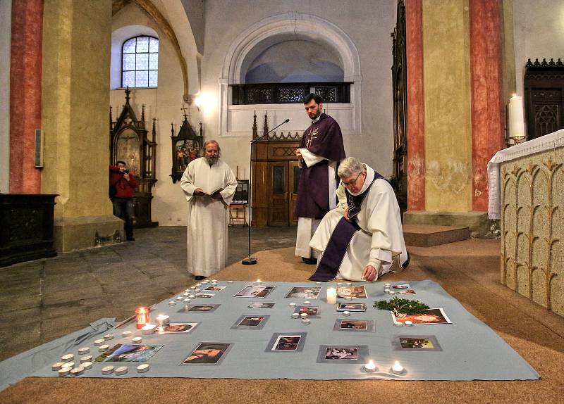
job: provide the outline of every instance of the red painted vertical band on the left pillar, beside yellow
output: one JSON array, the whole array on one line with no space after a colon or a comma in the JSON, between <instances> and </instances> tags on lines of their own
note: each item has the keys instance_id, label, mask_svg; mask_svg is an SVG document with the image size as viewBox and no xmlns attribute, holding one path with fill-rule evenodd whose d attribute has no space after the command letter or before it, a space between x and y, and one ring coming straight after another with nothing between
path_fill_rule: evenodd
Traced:
<instances>
[{"instance_id":1,"label":"red painted vertical band on the left pillar, beside yellow","mask_svg":"<svg viewBox=\"0 0 564 404\"><path fill-rule=\"evenodd\" d=\"M12 2L10 193L39 194L35 130L41 127L43 0Z\"/></svg>"}]
</instances>

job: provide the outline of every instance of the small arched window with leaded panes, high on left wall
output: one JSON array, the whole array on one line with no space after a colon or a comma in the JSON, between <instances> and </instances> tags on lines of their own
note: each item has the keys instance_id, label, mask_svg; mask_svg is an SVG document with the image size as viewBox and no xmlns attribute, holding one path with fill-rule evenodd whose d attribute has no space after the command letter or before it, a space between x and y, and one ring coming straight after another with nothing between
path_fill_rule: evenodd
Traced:
<instances>
[{"instance_id":1,"label":"small arched window with leaded panes, high on left wall","mask_svg":"<svg viewBox=\"0 0 564 404\"><path fill-rule=\"evenodd\" d=\"M134 37L121 48L121 87L157 87L159 39Z\"/></svg>"}]
</instances>

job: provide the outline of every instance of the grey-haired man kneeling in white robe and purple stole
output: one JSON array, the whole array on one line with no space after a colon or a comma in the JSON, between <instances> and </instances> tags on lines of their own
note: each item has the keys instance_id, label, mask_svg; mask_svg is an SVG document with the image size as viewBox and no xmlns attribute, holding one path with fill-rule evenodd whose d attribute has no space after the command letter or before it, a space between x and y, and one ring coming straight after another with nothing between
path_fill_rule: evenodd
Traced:
<instances>
[{"instance_id":1,"label":"grey-haired man kneeling in white robe and purple stole","mask_svg":"<svg viewBox=\"0 0 564 404\"><path fill-rule=\"evenodd\" d=\"M401 216L391 185L356 158L345 158L339 206L325 215L309 246L321 253L309 279L374 282L407 266Z\"/></svg>"}]
</instances>

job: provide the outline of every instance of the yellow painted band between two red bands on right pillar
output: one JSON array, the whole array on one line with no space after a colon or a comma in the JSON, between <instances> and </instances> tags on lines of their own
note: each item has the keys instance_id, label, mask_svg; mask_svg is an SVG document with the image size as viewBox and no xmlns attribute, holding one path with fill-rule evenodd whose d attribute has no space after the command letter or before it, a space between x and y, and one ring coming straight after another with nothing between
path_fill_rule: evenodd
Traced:
<instances>
[{"instance_id":1,"label":"yellow painted band between two red bands on right pillar","mask_svg":"<svg viewBox=\"0 0 564 404\"><path fill-rule=\"evenodd\" d=\"M472 210L470 39L465 0L423 1L425 209Z\"/></svg>"}]
</instances>

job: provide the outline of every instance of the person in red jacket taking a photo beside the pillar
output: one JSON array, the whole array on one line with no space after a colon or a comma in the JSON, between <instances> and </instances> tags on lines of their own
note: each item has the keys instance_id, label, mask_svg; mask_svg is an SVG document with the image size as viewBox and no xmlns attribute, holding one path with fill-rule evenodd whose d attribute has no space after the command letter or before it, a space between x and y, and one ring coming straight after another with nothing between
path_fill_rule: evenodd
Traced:
<instances>
[{"instance_id":1,"label":"person in red jacket taking a photo beside the pillar","mask_svg":"<svg viewBox=\"0 0 564 404\"><path fill-rule=\"evenodd\" d=\"M125 161L118 161L117 165L110 165L110 198L114 205L114 216L122 219L125 229L125 238L133 238L133 190L137 181L133 174L126 169Z\"/></svg>"}]
</instances>

